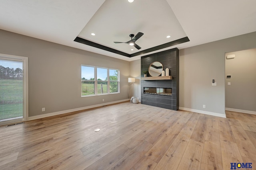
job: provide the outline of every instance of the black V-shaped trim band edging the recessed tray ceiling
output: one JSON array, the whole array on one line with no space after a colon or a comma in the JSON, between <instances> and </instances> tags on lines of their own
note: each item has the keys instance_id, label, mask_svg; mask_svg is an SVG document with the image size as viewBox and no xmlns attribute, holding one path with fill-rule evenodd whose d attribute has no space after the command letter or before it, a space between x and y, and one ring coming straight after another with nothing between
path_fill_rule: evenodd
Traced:
<instances>
[{"instance_id":1,"label":"black V-shaped trim band edging the recessed tray ceiling","mask_svg":"<svg viewBox=\"0 0 256 170\"><path fill-rule=\"evenodd\" d=\"M143 51L139 51L139 52L133 53L133 54L124 53L122 51L118 51L116 49L112 49L110 47L106 47L104 45L100 45L98 43L94 43L92 41L89 41L87 39L83 39L83 38L80 38L80 37L76 37L76 39L74 39L74 41L78 42L78 43L85 44L85 45L90 45L90 46L96 47L98 49L106 50L106 51L109 51L109 52L112 52L112 53L116 53L116 54L119 54L119 55L131 58L131 57L135 57L137 55L143 55L143 54L146 54L146 53L150 53L152 51L164 49L164 48L171 47L171 46L174 46L174 45L178 45L178 44L181 44L181 43L186 43L186 42L188 42L190 40L188 39L188 37L184 37L184 38L177 39L177 40L174 40L174 41L170 41L168 43L165 43L165 44L162 44L162 45L158 45L156 47L152 47L152 48L149 48L149 49L146 49L146 50L143 50Z\"/></svg>"}]
</instances>

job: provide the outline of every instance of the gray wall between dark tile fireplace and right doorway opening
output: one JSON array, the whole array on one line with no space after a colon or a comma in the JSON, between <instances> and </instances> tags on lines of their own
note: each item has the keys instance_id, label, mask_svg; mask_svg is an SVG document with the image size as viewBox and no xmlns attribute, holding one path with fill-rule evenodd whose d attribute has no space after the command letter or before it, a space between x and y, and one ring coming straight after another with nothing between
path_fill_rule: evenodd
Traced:
<instances>
[{"instance_id":1,"label":"gray wall between dark tile fireplace and right doorway opening","mask_svg":"<svg viewBox=\"0 0 256 170\"><path fill-rule=\"evenodd\" d=\"M181 49L179 106L225 114L225 53L253 48L256 32Z\"/></svg>"}]
</instances>

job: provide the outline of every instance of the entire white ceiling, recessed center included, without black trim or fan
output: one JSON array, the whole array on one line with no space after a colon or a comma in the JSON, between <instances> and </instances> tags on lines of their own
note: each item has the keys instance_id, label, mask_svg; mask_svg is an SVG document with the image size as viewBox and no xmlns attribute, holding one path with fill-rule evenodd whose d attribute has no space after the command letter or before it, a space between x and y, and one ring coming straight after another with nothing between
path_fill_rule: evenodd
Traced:
<instances>
[{"instance_id":1,"label":"entire white ceiling, recessed center included, without black trim or fan","mask_svg":"<svg viewBox=\"0 0 256 170\"><path fill-rule=\"evenodd\" d=\"M142 55L129 58L74 39L132 54L187 36L189 42L151 53L183 49L256 31L255 6L256 0L1 0L0 29L133 61ZM140 50L113 43L138 32Z\"/></svg>"}]
</instances>

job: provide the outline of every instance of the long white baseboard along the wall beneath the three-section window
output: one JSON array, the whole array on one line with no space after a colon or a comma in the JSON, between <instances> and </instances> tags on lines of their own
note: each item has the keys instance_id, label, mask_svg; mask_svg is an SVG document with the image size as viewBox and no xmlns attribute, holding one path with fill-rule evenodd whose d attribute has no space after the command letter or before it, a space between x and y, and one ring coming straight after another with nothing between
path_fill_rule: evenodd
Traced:
<instances>
[{"instance_id":1,"label":"long white baseboard along the wall beneath the three-section window","mask_svg":"<svg viewBox=\"0 0 256 170\"><path fill-rule=\"evenodd\" d=\"M46 113L46 114L43 114L43 115L37 115L37 116L27 117L27 118L26 118L26 121L35 120L35 119L42 119L42 118L45 118L45 117L50 117L50 116L55 116L55 115L61 115L61 114L70 113L70 112L73 112L73 111L80 111L80 110L84 110L84 109L91 109L91 108L94 108L94 107L100 107L100 106L105 106L105 105L109 105L109 104L116 104L116 103L126 102L126 101L129 101L129 99L118 100L118 101L108 102L108 103L102 103L102 104L96 104L96 105L86 106L86 107L79 107L79 108L76 108L76 109L69 109L69 110L57 111L57 112L53 112L53 113Z\"/></svg>"}]
</instances>

